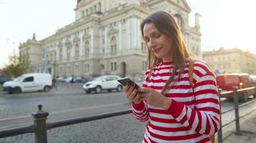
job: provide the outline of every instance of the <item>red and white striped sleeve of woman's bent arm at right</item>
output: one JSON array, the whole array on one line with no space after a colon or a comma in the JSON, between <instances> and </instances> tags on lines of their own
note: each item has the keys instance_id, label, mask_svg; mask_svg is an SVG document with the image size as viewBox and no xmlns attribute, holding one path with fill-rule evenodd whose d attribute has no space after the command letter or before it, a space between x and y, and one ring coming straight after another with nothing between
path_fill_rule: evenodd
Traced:
<instances>
[{"instance_id":1,"label":"red and white striped sleeve of woman's bent arm at right","mask_svg":"<svg viewBox=\"0 0 256 143\"><path fill-rule=\"evenodd\" d=\"M219 95L216 80L209 66L203 62L194 67L195 107L172 100L168 112L186 127L200 134L214 134L219 130ZM196 77L196 78L195 78Z\"/></svg>"}]
</instances>

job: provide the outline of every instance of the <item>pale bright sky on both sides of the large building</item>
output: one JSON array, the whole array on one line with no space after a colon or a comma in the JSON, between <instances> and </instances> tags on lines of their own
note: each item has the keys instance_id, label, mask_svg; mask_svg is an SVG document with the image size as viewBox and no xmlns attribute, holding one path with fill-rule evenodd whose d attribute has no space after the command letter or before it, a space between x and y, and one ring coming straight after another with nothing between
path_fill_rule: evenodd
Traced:
<instances>
[{"instance_id":1,"label":"pale bright sky on both sides of the large building","mask_svg":"<svg viewBox=\"0 0 256 143\"><path fill-rule=\"evenodd\" d=\"M41 40L75 21L76 0L0 0L0 68L19 43L36 35ZM256 1L187 0L194 14L201 14L201 49L211 51L223 46L256 54Z\"/></svg>"}]
</instances>

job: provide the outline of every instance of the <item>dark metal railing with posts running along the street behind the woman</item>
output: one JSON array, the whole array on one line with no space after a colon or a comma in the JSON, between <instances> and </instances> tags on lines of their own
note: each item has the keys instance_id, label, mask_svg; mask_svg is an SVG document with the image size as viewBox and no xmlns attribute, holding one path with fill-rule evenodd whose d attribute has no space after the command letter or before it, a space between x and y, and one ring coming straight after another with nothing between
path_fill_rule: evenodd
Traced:
<instances>
[{"instance_id":1,"label":"dark metal railing with posts running along the street behind the woman","mask_svg":"<svg viewBox=\"0 0 256 143\"><path fill-rule=\"evenodd\" d=\"M237 89L237 87L233 87L233 91L229 92L221 92L220 89L218 89L219 92L219 98L224 97L228 94L234 94L234 111L235 111L235 119L231 122L222 125L221 124L221 117L220 117L220 129L218 132L218 143L222 143L222 128L227 126L228 124L231 124L232 122L236 122L236 131L235 134L241 134L240 127L239 127L239 107L245 106L246 104L250 104L252 102L247 102L242 105L238 105L238 93L240 92L247 92L249 90L255 90L256 94L256 87L250 87L247 89ZM220 99L219 99L220 101ZM227 112L232 111L233 109L229 109L226 112L221 112L220 116L222 114L226 114ZM42 111L42 105L38 105L38 112L32 114L32 117L34 119L34 124L26 126L26 127L17 127L12 129L4 129L0 131L0 138L4 137L12 137L19 134L27 134L27 133L35 133L35 143L47 143L47 130L53 129L56 127L63 127L68 126L71 124L79 124L83 122L90 122L98 119L104 119L107 117L116 117L123 114L129 114L132 113L132 109L124 109L117 112L109 112L105 114L96 114L91 117L79 117L74 119L65 119L58 122L46 122L47 116L49 115L48 112ZM246 114L245 114L246 115ZM243 115L243 116L245 116Z\"/></svg>"}]
</instances>

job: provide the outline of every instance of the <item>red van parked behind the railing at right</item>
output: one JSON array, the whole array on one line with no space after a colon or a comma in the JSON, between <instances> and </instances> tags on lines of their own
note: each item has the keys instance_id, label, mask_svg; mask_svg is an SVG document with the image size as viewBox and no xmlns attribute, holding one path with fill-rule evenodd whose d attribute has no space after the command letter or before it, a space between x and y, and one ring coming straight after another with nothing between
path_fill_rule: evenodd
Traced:
<instances>
[{"instance_id":1,"label":"red van parked behind the railing at right","mask_svg":"<svg viewBox=\"0 0 256 143\"><path fill-rule=\"evenodd\" d=\"M252 79L250 79L249 74L238 73L238 74L218 74L216 75L216 84L221 91L231 91L232 87L236 86L239 89L244 89L247 87L252 87ZM243 94L238 94L244 102L247 102L248 96L254 94L254 92L244 92ZM232 98L233 94L226 96L227 98Z\"/></svg>"}]
</instances>

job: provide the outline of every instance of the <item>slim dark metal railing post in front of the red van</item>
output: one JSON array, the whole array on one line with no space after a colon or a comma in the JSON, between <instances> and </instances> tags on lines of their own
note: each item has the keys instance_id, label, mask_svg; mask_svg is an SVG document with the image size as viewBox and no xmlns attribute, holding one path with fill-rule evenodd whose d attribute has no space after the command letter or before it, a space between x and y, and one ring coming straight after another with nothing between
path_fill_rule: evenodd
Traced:
<instances>
[{"instance_id":1,"label":"slim dark metal railing post in front of the red van","mask_svg":"<svg viewBox=\"0 0 256 143\"><path fill-rule=\"evenodd\" d=\"M235 120L236 120L236 132L234 132L234 134L241 135L242 133L240 132L240 125L239 125L239 107L238 107L237 89L238 89L238 87L233 87L233 92L234 92L234 117L235 117Z\"/></svg>"}]
</instances>

